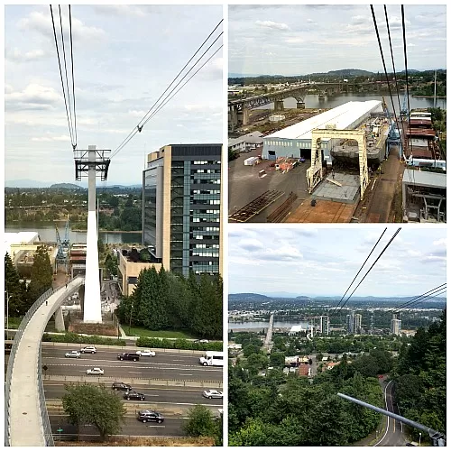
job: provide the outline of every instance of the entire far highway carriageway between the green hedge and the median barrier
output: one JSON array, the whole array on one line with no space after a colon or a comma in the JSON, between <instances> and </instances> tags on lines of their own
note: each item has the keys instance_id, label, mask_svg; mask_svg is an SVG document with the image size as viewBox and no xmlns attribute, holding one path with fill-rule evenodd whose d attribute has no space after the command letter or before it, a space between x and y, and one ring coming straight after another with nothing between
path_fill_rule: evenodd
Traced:
<instances>
[{"instance_id":1,"label":"entire far highway carriageway between the green hedge and the median barrier","mask_svg":"<svg viewBox=\"0 0 451 451\"><path fill-rule=\"evenodd\" d=\"M73 349L78 349L74 345ZM139 362L119 361L120 349L97 350L97 354L81 354L81 357L66 358L71 350L57 346L42 345L42 365L47 366L46 375L86 376L86 370L100 367L104 376L117 380L127 378L163 379L173 381L214 381L222 382L222 367L204 367L198 363L198 356L192 354L161 353L155 357L142 357ZM97 377L97 376L93 376Z\"/></svg>"}]
</instances>

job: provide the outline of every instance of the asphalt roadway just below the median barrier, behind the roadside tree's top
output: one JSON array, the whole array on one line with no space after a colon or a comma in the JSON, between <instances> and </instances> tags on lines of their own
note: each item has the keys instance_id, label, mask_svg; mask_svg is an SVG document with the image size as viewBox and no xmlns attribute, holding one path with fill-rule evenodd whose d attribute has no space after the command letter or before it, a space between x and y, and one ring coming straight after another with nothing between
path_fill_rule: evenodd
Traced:
<instances>
[{"instance_id":1,"label":"asphalt roadway just below the median barrier, behind the roadside tree's top","mask_svg":"<svg viewBox=\"0 0 451 451\"><path fill-rule=\"evenodd\" d=\"M60 400L67 391L64 385L67 382L60 381L44 381L44 391L46 400ZM111 386L111 382L105 383L106 387ZM149 406L152 404L152 409L172 408L178 406L182 410L189 410L196 404L203 404L207 407L211 407L212 410L222 408L222 400L213 399L208 400L202 396L203 390L195 387L185 388L161 388L148 384L134 384L132 386L133 391L143 393L146 397L145 400L129 400L127 404L143 404ZM219 390L217 388L216 390ZM124 399L124 391L113 391L121 399Z\"/></svg>"}]
</instances>

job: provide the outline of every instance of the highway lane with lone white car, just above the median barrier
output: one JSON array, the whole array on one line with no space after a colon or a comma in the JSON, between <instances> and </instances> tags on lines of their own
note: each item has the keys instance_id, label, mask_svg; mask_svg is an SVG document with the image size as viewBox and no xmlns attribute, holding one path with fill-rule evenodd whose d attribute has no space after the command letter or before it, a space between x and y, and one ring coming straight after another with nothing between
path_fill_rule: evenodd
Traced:
<instances>
[{"instance_id":1,"label":"highway lane with lone white car, just above the median barrier","mask_svg":"<svg viewBox=\"0 0 451 451\"><path fill-rule=\"evenodd\" d=\"M160 364L158 362L102 361L99 359L68 359L60 357L43 357L42 365L47 370L46 375L98 376L87 375L88 368L100 367L105 373L100 377L143 378L175 381L217 381L223 379L222 367L204 367L200 364L184 366L180 364Z\"/></svg>"}]
</instances>

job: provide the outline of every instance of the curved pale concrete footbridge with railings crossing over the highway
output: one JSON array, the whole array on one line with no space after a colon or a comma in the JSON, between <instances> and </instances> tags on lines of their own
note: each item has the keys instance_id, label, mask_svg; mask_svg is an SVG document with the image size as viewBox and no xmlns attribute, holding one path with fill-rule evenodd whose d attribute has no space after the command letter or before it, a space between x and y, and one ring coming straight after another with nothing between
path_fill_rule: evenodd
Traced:
<instances>
[{"instance_id":1,"label":"curved pale concrete footbridge with railings crossing over the highway","mask_svg":"<svg viewBox=\"0 0 451 451\"><path fill-rule=\"evenodd\" d=\"M14 336L5 381L5 446L53 446L41 376L41 340L51 316L85 283L46 291L28 310ZM58 311L57 311L58 310Z\"/></svg>"}]
</instances>

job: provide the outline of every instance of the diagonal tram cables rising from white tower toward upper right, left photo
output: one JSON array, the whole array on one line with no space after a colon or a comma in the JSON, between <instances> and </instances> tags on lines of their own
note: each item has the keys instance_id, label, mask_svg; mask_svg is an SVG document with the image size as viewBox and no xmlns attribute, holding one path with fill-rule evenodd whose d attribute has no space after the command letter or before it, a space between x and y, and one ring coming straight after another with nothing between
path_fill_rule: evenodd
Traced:
<instances>
[{"instance_id":1,"label":"diagonal tram cables rising from white tower toward upper right, left photo","mask_svg":"<svg viewBox=\"0 0 451 451\"><path fill-rule=\"evenodd\" d=\"M219 25L223 22L223 20L224 20L224 19L221 19L221 21L219 21L219 23L217 23L217 25L216 25L216 27L214 28L214 30L213 30L212 32L209 33L209 35L207 36L207 39L206 39L205 41L202 42L202 44L198 47L198 50L192 55L192 57L191 57L191 58L189 59L189 61L185 64L185 66L184 66L182 69L179 70L179 73L177 74L177 76L170 82L170 85L169 85L168 87L166 87L166 89L163 91L163 93L161 94L161 96L154 102L154 104L153 104L152 107L149 109L149 111L143 116L143 119L141 119L141 121L133 128L133 130L132 130L130 133L128 133L128 135L127 135L127 137L124 139L124 141L123 141L122 143L120 143L120 144L117 146L117 148L116 148L115 151L113 152L111 158L113 158L118 152L120 152L120 151L124 148L124 146L125 146L127 143L129 143L129 142L131 141L131 139L133 138L133 136L134 136L136 133L141 133L141 131L143 130L143 126L144 126L145 124L147 124L147 122L150 120L150 118L147 117L147 116L152 112L152 109L155 108L155 106L157 106L157 104L161 101L161 98L168 92L168 90L170 89L170 87L176 82L177 78L179 78L179 76L181 75L181 73L183 72L183 70L186 69L186 68L189 66L189 63L190 63L192 60L194 60L194 58L196 57L196 55L198 54L198 52L201 51L202 47L203 47L203 46L206 44L206 42L210 39L210 37L213 35L213 33L216 32L217 28L218 28ZM187 77L189 76L189 73L190 73L193 69L196 69L196 65L198 64L198 62L199 62L200 60L202 60L202 58L206 55L207 51L209 51L209 50L211 49L211 47L212 47L212 46L216 43L216 41L222 36L222 34L223 34L223 32L221 32L221 33L216 37L215 41L213 41L213 43L210 44L210 46L207 48L207 50L204 51L204 53L198 58L198 60L193 64L193 66L192 66L192 67L189 69L189 71L184 75L184 77L181 78L181 79L179 80L179 82L177 83L177 85L176 85L175 87L172 87L172 89L171 89L170 93L168 94L168 96L165 97L165 98L163 99L163 101L162 101L163 103L162 103L160 106L157 106L157 110L158 110L158 111L161 109L162 106L165 105L164 102L168 99L168 97L170 97L170 98L173 97L173 96L171 96L171 95L172 95L172 93L175 91L175 89L176 89L177 87L179 87L179 84L180 84L185 78L187 78ZM222 45L221 45L220 48L222 48ZM220 48L219 48L219 49L220 49ZM215 51L215 53L214 53L207 61L211 60L211 58L217 53L217 51L219 51L219 49L217 49L217 50ZM207 61L201 66L200 69L202 69L202 68L205 66L205 64L207 63ZM196 71L195 74L196 74L196 73L198 73L198 71ZM191 77L191 78L192 78L192 77ZM189 78L189 79L191 79L191 78ZM188 80L188 81L189 81L189 80ZM188 82L188 81L187 81L187 82ZM185 85L186 85L186 83L184 83L184 84L182 85L182 87L185 86ZM177 92L179 92L179 90L178 90ZM174 95L175 95L175 94L174 94ZM166 102L166 103L167 103L167 102ZM152 116L153 116L154 114L155 114L155 111L152 113ZM152 117L152 116L151 116L151 117ZM143 123L143 124L142 124L142 123Z\"/></svg>"}]
</instances>

